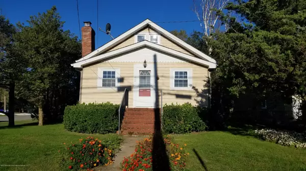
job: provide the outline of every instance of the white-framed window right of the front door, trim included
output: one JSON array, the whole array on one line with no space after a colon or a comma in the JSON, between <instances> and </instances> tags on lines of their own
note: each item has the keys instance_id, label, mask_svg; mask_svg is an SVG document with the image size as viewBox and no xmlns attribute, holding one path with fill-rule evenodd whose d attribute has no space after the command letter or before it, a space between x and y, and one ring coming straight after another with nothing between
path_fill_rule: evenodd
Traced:
<instances>
[{"instance_id":1,"label":"white-framed window right of the front door, trim included","mask_svg":"<svg viewBox=\"0 0 306 171\"><path fill-rule=\"evenodd\" d=\"M192 69L170 69L170 90L192 90Z\"/></svg>"}]
</instances>

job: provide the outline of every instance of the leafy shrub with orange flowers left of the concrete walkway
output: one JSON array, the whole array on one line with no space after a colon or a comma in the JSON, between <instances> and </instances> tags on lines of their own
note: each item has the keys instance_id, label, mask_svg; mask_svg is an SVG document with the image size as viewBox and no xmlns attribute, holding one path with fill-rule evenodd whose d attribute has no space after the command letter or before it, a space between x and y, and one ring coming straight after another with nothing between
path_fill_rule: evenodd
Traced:
<instances>
[{"instance_id":1,"label":"leafy shrub with orange flowers left of the concrete walkway","mask_svg":"<svg viewBox=\"0 0 306 171\"><path fill-rule=\"evenodd\" d=\"M66 152L62 153L61 167L63 170L79 170L98 165L113 163L114 153L119 149L121 139L111 136L108 140L94 139L88 136L80 139L79 143L66 145Z\"/></svg>"}]
</instances>

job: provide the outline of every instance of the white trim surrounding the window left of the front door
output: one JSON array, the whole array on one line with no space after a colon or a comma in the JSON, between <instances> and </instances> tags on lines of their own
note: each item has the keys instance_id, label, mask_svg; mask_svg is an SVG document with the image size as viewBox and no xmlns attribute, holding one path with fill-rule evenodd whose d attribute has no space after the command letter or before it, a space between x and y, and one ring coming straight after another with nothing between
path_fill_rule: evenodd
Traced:
<instances>
[{"instance_id":1,"label":"white trim surrounding the window left of the front door","mask_svg":"<svg viewBox=\"0 0 306 171\"><path fill-rule=\"evenodd\" d=\"M104 71L114 71L116 72L115 76L115 87L102 87L102 80L103 80L103 72ZM109 90L109 89L117 89L120 87L119 79L120 79L120 68L119 67L98 67L98 75L97 75L97 89L98 90Z\"/></svg>"}]
</instances>

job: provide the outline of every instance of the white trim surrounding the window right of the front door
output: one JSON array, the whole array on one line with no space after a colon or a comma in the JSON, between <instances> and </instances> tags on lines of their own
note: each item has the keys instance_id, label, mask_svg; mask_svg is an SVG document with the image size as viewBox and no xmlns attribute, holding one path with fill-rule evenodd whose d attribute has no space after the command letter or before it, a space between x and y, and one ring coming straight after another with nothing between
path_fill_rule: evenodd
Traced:
<instances>
[{"instance_id":1,"label":"white trim surrounding the window right of the front door","mask_svg":"<svg viewBox=\"0 0 306 171\"><path fill-rule=\"evenodd\" d=\"M188 86L187 87L174 87L174 72L184 71L187 72ZM170 68L170 90L192 90L192 69L185 68Z\"/></svg>"}]
</instances>

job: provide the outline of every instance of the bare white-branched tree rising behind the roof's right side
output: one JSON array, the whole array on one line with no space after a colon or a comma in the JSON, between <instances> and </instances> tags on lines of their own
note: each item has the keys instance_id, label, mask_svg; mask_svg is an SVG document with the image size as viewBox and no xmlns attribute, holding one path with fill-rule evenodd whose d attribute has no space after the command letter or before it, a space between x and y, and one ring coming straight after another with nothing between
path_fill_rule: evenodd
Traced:
<instances>
[{"instance_id":1,"label":"bare white-branched tree rising behind the roof's right side","mask_svg":"<svg viewBox=\"0 0 306 171\"><path fill-rule=\"evenodd\" d=\"M200 21L205 36L210 37L216 30L217 11L222 11L230 0L193 0L193 11Z\"/></svg>"}]
</instances>

